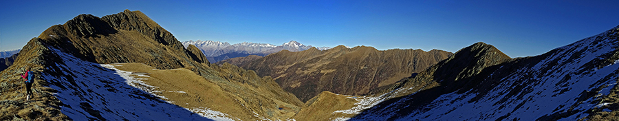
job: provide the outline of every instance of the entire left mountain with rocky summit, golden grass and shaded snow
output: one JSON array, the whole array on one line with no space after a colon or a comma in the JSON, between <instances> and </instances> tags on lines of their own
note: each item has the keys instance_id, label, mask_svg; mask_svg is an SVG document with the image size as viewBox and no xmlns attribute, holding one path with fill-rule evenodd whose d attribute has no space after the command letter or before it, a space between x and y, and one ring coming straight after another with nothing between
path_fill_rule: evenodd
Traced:
<instances>
[{"instance_id":1,"label":"entire left mountain with rocky summit, golden grass and shaded snow","mask_svg":"<svg viewBox=\"0 0 619 121\"><path fill-rule=\"evenodd\" d=\"M144 66L109 65L114 63ZM26 65L37 75L31 100L25 100L19 77ZM151 72L155 69L169 71ZM303 106L270 78L234 65L211 65L197 47L183 47L140 11L100 18L80 14L53 25L30 40L0 75L1 120L276 120L291 117ZM203 86L161 85L166 83ZM180 101L186 97L191 102ZM218 104L220 100L226 103Z\"/></svg>"}]
</instances>

